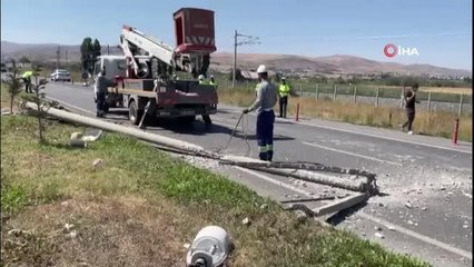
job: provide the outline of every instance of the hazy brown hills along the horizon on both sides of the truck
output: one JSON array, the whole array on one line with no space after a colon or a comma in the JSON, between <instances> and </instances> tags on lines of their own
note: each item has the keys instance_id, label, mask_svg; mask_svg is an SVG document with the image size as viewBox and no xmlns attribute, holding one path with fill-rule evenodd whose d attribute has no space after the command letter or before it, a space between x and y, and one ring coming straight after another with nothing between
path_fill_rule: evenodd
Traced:
<instances>
[{"instance_id":1,"label":"hazy brown hills along the horizon on both sides of the truck","mask_svg":"<svg viewBox=\"0 0 474 267\"><path fill-rule=\"evenodd\" d=\"M58 43L16 43L1 41L1 55L4 57L19 58L21 56L40 60L56 60L58 46L61 61L80 60L80 46L62 46ZM102 55L122 55L117 47L102 46ZM365 58L335 55L328 57L304 57L295 55L271 53L239 53L237 55L238 68L244 70L255 69L257 65L264 63L270 69L284 72L309 72L309 73L340 73L340 75L368 75L379 72L396 72L401 75L434 75L434 76L464 76L472 77L471 70L450 69L432 65L402 65L395 62L379 62ZM233 67L234 55L228 52L215 52L211 55L210 68L217 71L229 71Z\"/></svg>"}]
</instances>

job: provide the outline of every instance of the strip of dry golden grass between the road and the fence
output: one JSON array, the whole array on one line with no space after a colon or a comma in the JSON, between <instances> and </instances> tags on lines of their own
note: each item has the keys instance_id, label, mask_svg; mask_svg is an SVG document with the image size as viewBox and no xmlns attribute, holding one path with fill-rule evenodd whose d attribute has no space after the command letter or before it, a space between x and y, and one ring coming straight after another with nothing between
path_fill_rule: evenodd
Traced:
<instances>
[{"instance_id":1,"label":"strip of dry golden grass between the road and the fence","mask_svg":"<svg viewBox=\"0 0 474 267\"><path fill-rule=\"evenodd\" d=\"M219 102L233 106L249 106L255 100L254 89L221 89ZM406 116L403 109L395 107L375 107L373 105L333 101L330 99L289 98L288 113L295 115L296 105L300 105L300 116L344 121L355 125L399 129ZM456 115L445 111L417 111L413 128L418 135L451 138ZM472 115L460 118L458 139L472 141Z\"/></svg>"}]
</instances>

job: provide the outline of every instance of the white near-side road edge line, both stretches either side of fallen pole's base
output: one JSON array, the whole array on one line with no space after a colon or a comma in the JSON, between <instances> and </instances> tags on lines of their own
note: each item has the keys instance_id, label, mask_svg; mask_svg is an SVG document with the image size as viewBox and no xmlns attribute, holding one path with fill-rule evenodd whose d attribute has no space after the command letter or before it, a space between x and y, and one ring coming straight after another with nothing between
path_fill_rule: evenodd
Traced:
<instances>
[{"instance_id":1,"label":"white near-side road edge line, both stretches either side of fallen pole's base","mask_svg":"<svg viewBox=\"0 0 474 267\"><path fill-rule=\"evenodd\" d=\"M306 190L303 190L303 189L299 189L299 188L295 188L295 187L293 187L293 186L290 186L290 185L288 185L288 184L285 184L285 182L282 182L282 181L278 181L278 180L276 180L276 179L274 179L274 178L271 178L271 177L268 177L268 176L266 176L266 175L263 175L263 174L256 172L256 171L254 171L254 170L245 169L245 168L243 168L243 167L236 167L236 168L237 168L237 169L239 169L239 170L241 170L241 171L244 171L244 172L247 172L247 174L249 174L249 175L251 175L251 176L255 176L255 177L258 177L258 178L260 178L260 179L263 179L263 180L266 180L266 181L268 181L268 182L271 182L271 184L274 184L274 185L278 185L278 186L285 187L285 188L287 188L287 189L294 190L294 191L296 191L296 192L298 192L298 194L300 194L300 195L305 195L305 196L308 196L308 197L314 197L313 195L310 195L310 192L308 192L308 191L306 191ZM445 244L445 243L438 241L438 240L433 239L433 238L431 238L431 237L427 237L427 236L424 236L424 235L422 235L422 234L415 233L415 231L413 231L413 230L406 229L406 228L404 228L404 227L402 227L402 226L398 226L398 225L395 225L395 224L388 222L388 221L386 221L386 220L384 220L384 219L376 218L376 217L374 217L374 216L372 216L372 215L364 214L364 212L362 212L362 211L361 211L361 212L357 212L356 215L358 215L358 216L361 216L361 217L363 217L363 218L365 218L365 219L372 220L372 221L374 221L374 222L377 222L377 224L384 225L384 226L385 226L385 227L387 227L387 228L393 227L393 228L397 229L397 231L399 231L399 233L402 233L402 234L404 234L404 235L411 236L411 237L413 237L413 238L415 238L415 239L418 239L418 240L421 240L421 241L424 241L424 243L431 244L431 245L433 245L433 246L435 246L435 247L442 248L442 249L444 249L444 250L447 250L447 251L450 251L450 253L456 254L456 255L458 255L458 256L461 256L461 257L464 257L464 258L467 258L467 259L472 260L472 253L470 253L470 251L463 250L463 249L461 249L461 248L453 247L453 246L451 246L451 245L448 245L448 244Z\"/></svg>"}]
</instances>

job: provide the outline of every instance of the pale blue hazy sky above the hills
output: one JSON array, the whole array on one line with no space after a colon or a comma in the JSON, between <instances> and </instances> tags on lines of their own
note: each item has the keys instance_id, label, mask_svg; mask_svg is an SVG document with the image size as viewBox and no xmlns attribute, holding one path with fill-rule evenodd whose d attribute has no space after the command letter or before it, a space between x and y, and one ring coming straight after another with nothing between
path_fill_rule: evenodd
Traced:
<instances>
[{"instance_id":1,"label":"pale blue hazy sky above the hills","mask_svg":"<svg viewBox=\"0 0 474 267\"><path fill-rule=\"evenodd\" d=\"M211 9L218 51L234 50L234 31L260 44L239 52L353 55L379 61L472 70L471 0L1 0L1 39L79 44L85 37L118 44L130 24L175 46L172 12ZM387 58L384 47L419 56Z\"/></svg>"}]
</instances>

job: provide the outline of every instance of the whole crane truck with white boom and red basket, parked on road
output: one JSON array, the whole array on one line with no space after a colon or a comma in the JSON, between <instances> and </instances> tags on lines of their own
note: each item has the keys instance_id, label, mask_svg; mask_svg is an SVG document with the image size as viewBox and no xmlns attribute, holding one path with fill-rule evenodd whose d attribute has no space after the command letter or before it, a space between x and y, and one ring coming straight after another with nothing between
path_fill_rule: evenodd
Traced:
<instances>
[{"instance_id":1,"label":"whole crane truck with white boom and red basket, parked on road","mask_svg":"<svg viewBox=\"0 0 474 267\"><path fill-rule=\"evenodd\" d=\"M176 48L124 26L120 47L125 56L100 56L95 63L95 75L106 69L106 77L117 83L108 88L107 106L128 108L134 125L141 126L145 116L185 122L203 116L210 126L210 115L217 112L215 87L196 80L199 75L206 77L210 53L216 51L214 11L182 8L174 20ZM191 73L194 79L179 80L177 71Z\"/></svg>"}]
</instances>

